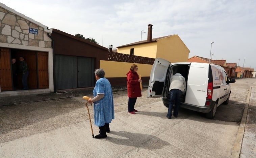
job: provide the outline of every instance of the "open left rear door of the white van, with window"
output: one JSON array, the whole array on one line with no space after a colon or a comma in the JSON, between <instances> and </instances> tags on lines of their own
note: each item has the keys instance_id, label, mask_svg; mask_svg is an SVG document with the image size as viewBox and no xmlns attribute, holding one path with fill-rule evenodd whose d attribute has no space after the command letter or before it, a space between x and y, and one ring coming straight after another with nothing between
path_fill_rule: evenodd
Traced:
<instances>
[{"instance_id":1,"label":"open left rear door of the white van, with window","mask_svg":"<svg viewBox=\"0 0 256 158\"><path fill-rule=\"evenodd\" d=\"M165 77L171 63L162 58L156 58L151 69L147 98L161 97L165 84Z\"/></svg>"}]
</instances>

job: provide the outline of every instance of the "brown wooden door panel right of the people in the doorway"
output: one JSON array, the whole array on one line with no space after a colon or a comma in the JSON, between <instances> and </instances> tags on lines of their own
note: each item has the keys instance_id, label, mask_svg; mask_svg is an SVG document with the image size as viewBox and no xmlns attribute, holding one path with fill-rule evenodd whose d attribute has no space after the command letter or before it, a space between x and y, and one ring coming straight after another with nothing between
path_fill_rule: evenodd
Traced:
<instances>
[{"instance_id":1,"label":"brown wooden door panel right of the people in the doorway","mask_svg":"<svg viewBox=\"0 0 256 158\"><path fill-rule=\"evenodd\" d=\"M39 89L49 88L48 53L37 52Z\"/></svg>"}]
</instances>

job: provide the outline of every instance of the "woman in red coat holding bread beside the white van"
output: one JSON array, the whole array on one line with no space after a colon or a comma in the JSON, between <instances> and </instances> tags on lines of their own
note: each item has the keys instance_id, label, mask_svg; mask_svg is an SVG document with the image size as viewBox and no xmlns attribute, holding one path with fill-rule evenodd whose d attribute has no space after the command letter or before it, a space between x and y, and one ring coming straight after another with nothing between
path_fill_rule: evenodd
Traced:
<instances>
[{"instance_id":1,"label":"woman in red coat holding bread beside the white van","mask_svg":"<svg viewBox=\"0 0 256 158\"><path fill-rule=\"evenodd\" d=\"M130 71L127 75L127 92L128 92L128 112L131 114L136 114L134 112L138 112L138 110L134 109L134 105L136 103L137 97L141 97L141 90L139 83L142 83L142 80L139 79L139 75L137 73L138 66L133 64L130 68Z\"/></svg>"}]
</instances>

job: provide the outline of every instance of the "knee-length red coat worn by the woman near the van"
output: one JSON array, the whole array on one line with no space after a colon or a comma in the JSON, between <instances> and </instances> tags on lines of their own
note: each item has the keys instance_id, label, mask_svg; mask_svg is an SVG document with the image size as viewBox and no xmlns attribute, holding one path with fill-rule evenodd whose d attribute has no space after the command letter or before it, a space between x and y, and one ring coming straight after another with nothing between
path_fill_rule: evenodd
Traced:
<instances>
[{"instance_id":1,"label":"knee-length red coat worn by the woman near the van","mask_svg":"<svg viewBox=\"0 0 256 158\"><path fill-rule=\"evenodd\" d=\"M127 92L129 98L141 97L141 90L139 86L139 75L137 72L130 70L127 74Z\"/></svg>"}]
</instances>

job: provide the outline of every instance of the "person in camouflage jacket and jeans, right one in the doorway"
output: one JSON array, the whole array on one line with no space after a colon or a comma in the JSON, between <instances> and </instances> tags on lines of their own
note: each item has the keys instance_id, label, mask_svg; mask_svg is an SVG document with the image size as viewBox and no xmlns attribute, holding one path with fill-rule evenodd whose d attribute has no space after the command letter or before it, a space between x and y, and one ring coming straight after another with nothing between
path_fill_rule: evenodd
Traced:
<instances>
[{"instance_id":1,"label":"person in camouflage jacket and jeans, right one in the doorway","mask_svg":"<svg viewBox=\"0 0 256 158\"><path fill-rule=\"evenodd\" d=\"M19 69L20 72L22 73L22 85L23 88L22 90L27 90L28 89L28 83L27 83L27 78L28 78L28 65L27 62L25 62L23 57L20 57L20 65Z\"/></svg>"}]
</instances>

